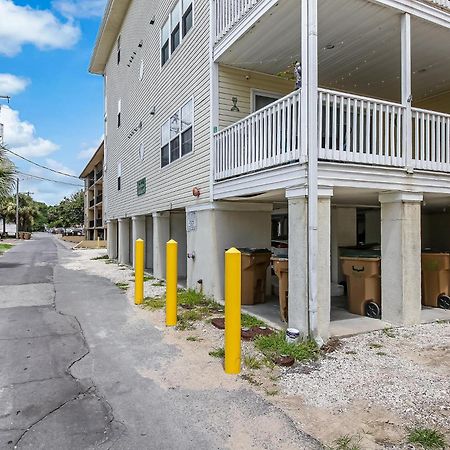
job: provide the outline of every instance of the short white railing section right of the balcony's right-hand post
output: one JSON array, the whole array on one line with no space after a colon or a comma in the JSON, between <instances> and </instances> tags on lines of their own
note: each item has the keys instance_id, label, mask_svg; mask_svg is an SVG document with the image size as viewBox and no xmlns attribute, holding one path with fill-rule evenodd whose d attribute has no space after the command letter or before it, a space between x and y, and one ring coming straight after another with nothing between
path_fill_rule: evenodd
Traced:
<instances>
[{"instance_id":1,"label":"short white railing section right of the balcony's right-hand post","mask_svg":"<svg viewBox=\"0 0 450 450\"><path fill-rule=\"evenodd\" d=\"M414 167L450 172L450 115L413 108L412 122Z\"/></svg>"}]
</instances>

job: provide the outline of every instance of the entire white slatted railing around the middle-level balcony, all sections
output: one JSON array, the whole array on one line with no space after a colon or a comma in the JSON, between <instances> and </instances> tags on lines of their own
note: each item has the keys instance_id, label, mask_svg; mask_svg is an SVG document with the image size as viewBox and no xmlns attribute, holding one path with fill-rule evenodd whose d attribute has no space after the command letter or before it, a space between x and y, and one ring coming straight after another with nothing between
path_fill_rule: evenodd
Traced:
<instances>
[{"instance_id":1,"label":"entire white slatted railing around the middle-level balcony, all sections","mask_svg":"<svg viewBox=\"0 0 450 450\"><path fill-rule=\"evenodd\" d=\"M338 91L318 92L319 160L450 173L450 115ZM214 179L307 160L301 91L214 135ZM412 146L407 151L407 130Z\"/></svg>"}]
</instances>

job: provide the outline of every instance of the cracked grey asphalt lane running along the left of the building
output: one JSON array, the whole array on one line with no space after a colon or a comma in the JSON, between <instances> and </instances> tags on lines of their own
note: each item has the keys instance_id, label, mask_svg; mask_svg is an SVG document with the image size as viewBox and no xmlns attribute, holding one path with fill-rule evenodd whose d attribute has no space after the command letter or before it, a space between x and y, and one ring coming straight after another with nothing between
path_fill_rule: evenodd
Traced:
<instances>
[{"instance_id":1,"label":"cracked grey asphalt lane running along the left of the building","mask_svg":"<svg viewBox=\"0 0 450 450\"><path fill-rule=\"evenodd\" d=\"M158 370L179 350L109 280L67 269L75 257L35 234L0 258L0 449L230 448L231 411L286 422L289 448L321 448L251 390L140 376L143 362Z\"/></svg>"}]
</instances>

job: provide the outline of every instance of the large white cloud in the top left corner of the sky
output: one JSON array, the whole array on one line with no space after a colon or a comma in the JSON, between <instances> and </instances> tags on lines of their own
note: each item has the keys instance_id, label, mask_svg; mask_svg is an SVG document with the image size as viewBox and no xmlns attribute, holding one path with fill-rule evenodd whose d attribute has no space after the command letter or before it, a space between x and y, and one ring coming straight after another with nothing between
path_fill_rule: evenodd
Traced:
<instances>
[{"instance_id":1,"label":"large white cloud in the top left corner of the sky","mask_svg":"<svg viewBox=\"0 0 450 450\"><path fill-rule=\"evenodd\" d=\"M49 10L0 0L0 54L17 55L26 44L41 50L70 48L78 42L80 34L71 20L63 23Z\"/></svg>"}]
</instances>

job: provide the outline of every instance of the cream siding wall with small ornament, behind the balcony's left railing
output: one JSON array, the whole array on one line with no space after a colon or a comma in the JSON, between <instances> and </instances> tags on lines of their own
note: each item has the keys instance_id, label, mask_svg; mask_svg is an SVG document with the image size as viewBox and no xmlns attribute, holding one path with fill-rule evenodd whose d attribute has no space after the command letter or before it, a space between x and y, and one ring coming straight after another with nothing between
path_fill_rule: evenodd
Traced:
<instances>
[{"instance_id":1,"label":"cream siding wall with small ornament, behind the balcony's left railing","mask_svg":"<svg viewBox=\"0 0 450 450\"><path fill-rule=\"evenodd\" d=\"M221 129L252 112L252 89L285 96L295 89L295 82L274 75L219 66L219 126ZM239 112L231 111L233 97L238 99Z\"/></svg>"}]
</instances>

